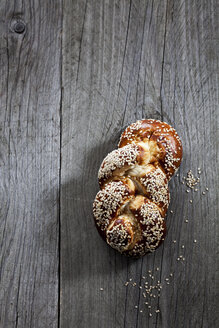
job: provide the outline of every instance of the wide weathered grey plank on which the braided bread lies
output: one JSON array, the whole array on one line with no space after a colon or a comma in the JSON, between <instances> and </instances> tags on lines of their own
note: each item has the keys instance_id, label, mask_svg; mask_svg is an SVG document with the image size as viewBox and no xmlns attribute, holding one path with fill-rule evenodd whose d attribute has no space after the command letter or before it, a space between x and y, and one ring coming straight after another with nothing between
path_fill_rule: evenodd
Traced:
<instances>
[{"instance_id":1,"label":"wide weathered grey plank on which the braided bread lies","mask_svg":"<svg viewBox=\"0 0 219 328\"><path fill-rule=\"evenodd\" d=\"M205 1L64 1L61 327L216 326L215 8ZM92 200L101 160L142 117L177 128L184 162L171 182L164 245L134 261L100 239ZM186 193L180 181L199 166L199 191ZM146 305L138 286L142 276L152 284L148 270L163 289ZM129 278L136 287L124 286Z\"/></svg>"}]
</instances>

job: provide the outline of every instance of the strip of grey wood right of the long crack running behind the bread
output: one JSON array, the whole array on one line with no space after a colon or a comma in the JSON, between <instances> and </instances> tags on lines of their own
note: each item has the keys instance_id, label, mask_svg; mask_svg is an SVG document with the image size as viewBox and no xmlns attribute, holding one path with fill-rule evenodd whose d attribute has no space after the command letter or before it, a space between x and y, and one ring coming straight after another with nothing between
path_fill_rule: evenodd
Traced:
<instances>
[{"instance_id":1,"label":"strip of grey wood right of the long crack running behind the bread","mask_svg":"<svg viewBox=\"0 0 219 328\"><path fill-rule=\"evenodd\" d=\"M169 1L167 13L161 100L164 119L183 139L184 160L171 184L173 215L163 256L163 277L172 270L175 278L160 299L158 322L217 327L219 12L216 1ZM198 175L198 168L198 190L186 193L180 181L190 169ZM180 254L185 263L176 265Z\"/></svg>"}]
</instances>

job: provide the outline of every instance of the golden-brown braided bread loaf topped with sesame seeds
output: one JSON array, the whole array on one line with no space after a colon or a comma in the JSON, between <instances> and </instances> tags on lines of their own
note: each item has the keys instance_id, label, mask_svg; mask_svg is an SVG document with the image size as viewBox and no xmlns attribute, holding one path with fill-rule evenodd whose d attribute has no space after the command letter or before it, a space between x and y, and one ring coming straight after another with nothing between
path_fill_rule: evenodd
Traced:
<instances>
[{"instance_id":1,"label":"golden-brown braided bread loaf topped with sesame seeds","mask_svg":"<svg viewBox=\"0 0 219 328\"><path fill-rule=\"evenodd\" d=\"M114 249L140 257L154 251L166 234L168 181L182 159L180 138L158 120L131 124L118 149L103 160L100 191L93 204L96 227Z\"/></svg>"}]
</instances>

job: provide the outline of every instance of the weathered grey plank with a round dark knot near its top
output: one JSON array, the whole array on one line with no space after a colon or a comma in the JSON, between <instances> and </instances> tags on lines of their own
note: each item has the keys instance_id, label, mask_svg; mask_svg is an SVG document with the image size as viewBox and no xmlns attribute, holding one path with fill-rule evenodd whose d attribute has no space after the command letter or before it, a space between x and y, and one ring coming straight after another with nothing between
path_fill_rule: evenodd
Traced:
<instances>
[{"instance_id":1,"label":"weathered grey plank with a round dark knot near its top","mask_svg":"<svg viewBox=\"0 0 219 328\"><path fill-rule=\"evenodd\" d=\"M61 13L0 4L1 327L58 325Z\"/></svg>"}]
</instances>

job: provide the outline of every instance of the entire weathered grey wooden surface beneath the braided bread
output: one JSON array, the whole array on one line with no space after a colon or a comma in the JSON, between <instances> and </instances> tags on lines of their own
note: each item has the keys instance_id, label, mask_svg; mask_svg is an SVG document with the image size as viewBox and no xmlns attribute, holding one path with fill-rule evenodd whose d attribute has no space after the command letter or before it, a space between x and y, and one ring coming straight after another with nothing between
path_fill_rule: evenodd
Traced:
<instances>
[{"instance_id":1,"label":"entire weathered grey wooden surface beneath the braided bread","mask_svg":"<svg viewBox=\"0 0 219 328\"><path fill-rule=\"evenodd\" d=\"M218 327L218 1L2 0L0 17L0 327ZM172 124L184 158L164 244L132 260L92 202L141 118Z\"/></svg>"}]
</instances>

